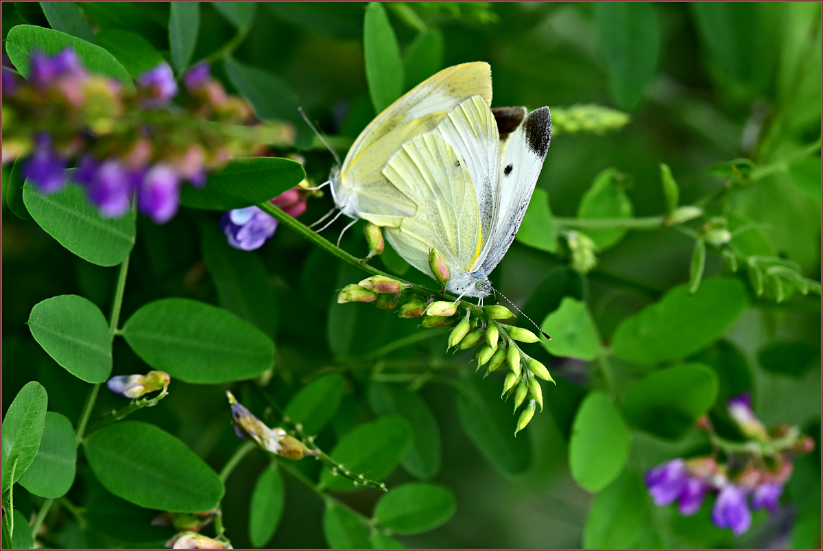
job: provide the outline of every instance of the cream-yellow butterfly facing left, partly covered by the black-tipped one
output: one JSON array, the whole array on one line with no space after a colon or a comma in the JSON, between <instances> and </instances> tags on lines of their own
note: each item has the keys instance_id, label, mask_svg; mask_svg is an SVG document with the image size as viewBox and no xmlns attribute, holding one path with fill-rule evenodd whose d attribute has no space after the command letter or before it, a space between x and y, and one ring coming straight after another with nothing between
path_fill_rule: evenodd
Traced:
<instances>
[{"instance_id":1,"label":"cream-yellow butterfly facing left, partly covered by the black-tipped one","mask_svg":"<svg viewBox=\"0 0 823 551\"><path fill-rule=\"evenodd\" d=\"M470 96L491 104L488 63L463 63L445 68L408 91L380 113L355 140L339 173L332 175L335 204L349 217L379 226L399 226L416 212L416 204L386 180L388 158L403 142L434 129Z\"/></svg>"}]
</instances>

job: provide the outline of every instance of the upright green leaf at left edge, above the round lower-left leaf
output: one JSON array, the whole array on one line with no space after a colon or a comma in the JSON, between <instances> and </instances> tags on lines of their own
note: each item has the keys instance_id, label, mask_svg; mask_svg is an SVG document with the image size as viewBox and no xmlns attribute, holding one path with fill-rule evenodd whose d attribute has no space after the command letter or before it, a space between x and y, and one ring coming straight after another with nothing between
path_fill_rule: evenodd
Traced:
<instances>
[{"instance_id":1,"label":"upright green leaf at left edge, above the round lower-left leaf","mask_svg":"<svg viewBox=\"0 0 823 551\"><path fill-rule=\"evenodd\" d=\"M2 420L2 492L20 479L35 460L49 396L43 385L30 381L17 393ZM14 479L12 480L12 472Z\"/></svg>"}]
</instances>

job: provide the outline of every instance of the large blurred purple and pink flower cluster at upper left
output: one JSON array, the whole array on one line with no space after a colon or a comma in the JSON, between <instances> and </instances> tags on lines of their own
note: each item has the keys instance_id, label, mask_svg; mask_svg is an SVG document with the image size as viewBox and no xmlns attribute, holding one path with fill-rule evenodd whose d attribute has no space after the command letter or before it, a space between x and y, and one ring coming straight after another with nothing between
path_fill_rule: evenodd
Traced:
<instances>
[{"instance_id":1,"label":"large blurred purple and pink flower cluster at upper left","mask_svg":"<svg viewBox=\"0 0 823 551\"><path fill-rule=\"evenodd\" d=\"M35 51L26 82L4 67L2 83L2 162L21 161L44 194L63 189L65 169L77 166L72 179L103 217L122 217L136 198L140 212L168 222L184 183L200 189L233 156L294 138L291 124L255 124L249 105L228 96L204 64L187 72L179 94L165 62L132 88L88 72L71 48Z\"/></svg>"}]
</instances>

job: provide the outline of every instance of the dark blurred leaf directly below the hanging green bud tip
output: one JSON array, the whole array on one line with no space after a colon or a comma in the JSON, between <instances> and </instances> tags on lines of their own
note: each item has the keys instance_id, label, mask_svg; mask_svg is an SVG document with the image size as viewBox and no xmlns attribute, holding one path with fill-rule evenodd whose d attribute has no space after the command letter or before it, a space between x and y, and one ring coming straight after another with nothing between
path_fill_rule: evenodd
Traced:
<instances>
[{"instance_id":1,"label":"dark blurred leaf directly below the hanging green bud tip","mask_svg":"<svg viewBox=\"0 0 823 551\"><path fill-rule=\"evenodd\" d=\"M500 386L467 376L459 381L458 416L463 430L481 454L504 474L520 474L532 462L528 432L514 437L517 418L500 399Z\"/></svg>"}]
</instances>

